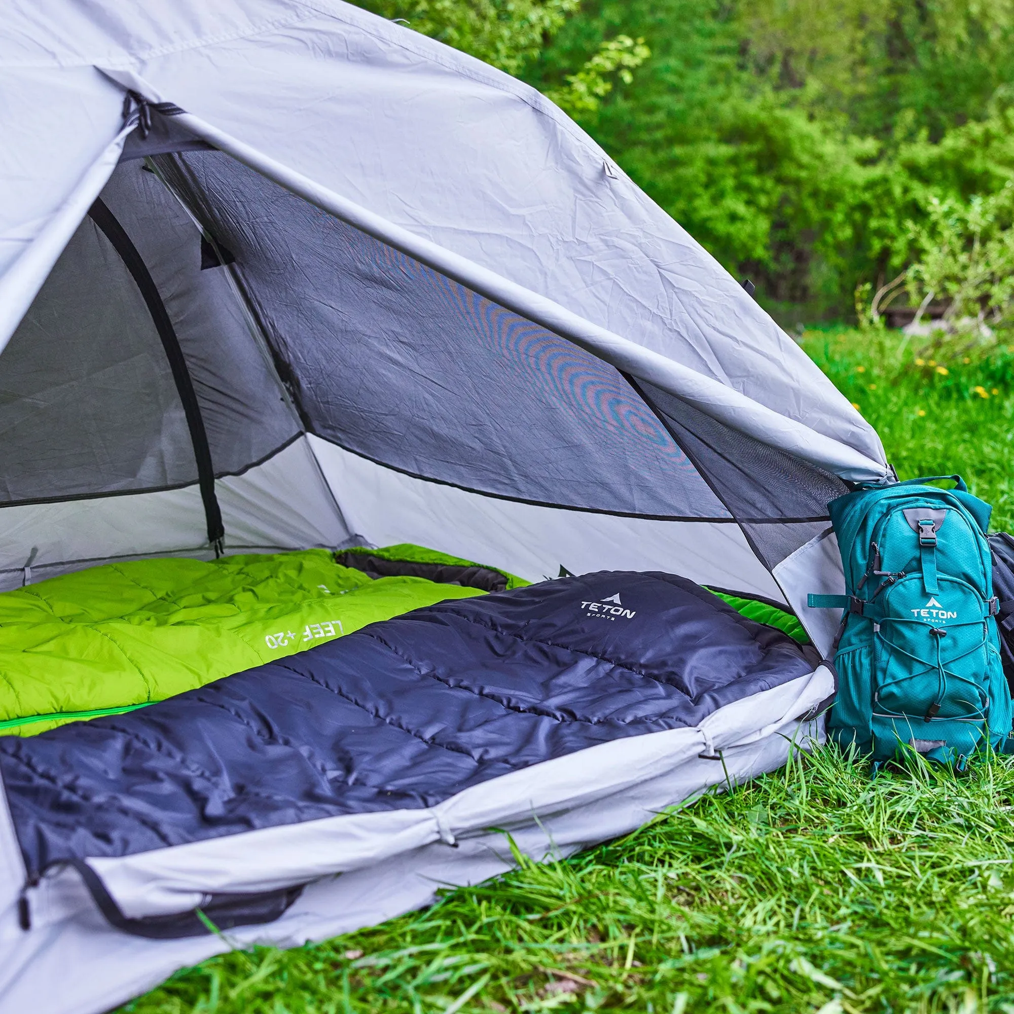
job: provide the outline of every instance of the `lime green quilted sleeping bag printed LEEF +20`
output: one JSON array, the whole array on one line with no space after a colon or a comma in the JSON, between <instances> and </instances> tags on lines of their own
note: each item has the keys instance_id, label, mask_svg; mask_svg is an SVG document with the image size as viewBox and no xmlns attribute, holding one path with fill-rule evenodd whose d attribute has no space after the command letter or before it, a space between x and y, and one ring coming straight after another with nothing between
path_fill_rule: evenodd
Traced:
<instances>
[{"instance_id":1,"label":"lime green quilted sleeping bag printed LEEF +20","mask_svg":"<svg viewBox=\"0 0 1014 1014\"><path fill-rule=\"evenodd\" d=\"M467 563L415 547L379 552L402 549ZM328 550L142 560L51 578L0 594L0 734L130 711L378 620L482 593L422 577L373 579Z\"/></svg>"}]
</instances>

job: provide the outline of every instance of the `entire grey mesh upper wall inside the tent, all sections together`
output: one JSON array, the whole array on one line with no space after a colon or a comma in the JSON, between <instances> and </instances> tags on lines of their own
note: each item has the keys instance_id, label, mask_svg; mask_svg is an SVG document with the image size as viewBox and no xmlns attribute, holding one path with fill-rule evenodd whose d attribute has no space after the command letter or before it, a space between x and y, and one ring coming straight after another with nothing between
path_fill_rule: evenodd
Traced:
<instances>
[{"instance_id":1,"label":"entire grey mesh upper wall inside the tent, all sections together","mask_svg":"<svg viewBox=\"0 0 1014 1014\"><path fill-rule=\"evenodd\" d=\"M172 317L219 475L300 432L298 410L318 436L424 479L734 519L769 567L822 530L846 491L220 152L154 161L157 174L122 164L102 196ZM201 270L209 237L234 257L228 269ZM147 308L90 221L0 366L0 503L196 481Z\"/></svg>"}]
</instances>

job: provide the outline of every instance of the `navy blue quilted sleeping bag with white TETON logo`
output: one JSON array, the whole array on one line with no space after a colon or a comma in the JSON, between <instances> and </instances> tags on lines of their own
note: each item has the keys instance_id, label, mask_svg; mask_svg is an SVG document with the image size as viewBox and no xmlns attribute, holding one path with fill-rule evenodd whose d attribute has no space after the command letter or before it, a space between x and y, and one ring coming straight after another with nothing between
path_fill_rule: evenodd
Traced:
<instances>
[{"instance_id":1,"label":"navy blue quilted sleeping bag with white TETON logo","mask_svg":"<svg viewBox=\"0 0 1014 1014\"><path fill-rule=\"evenodd\" d=\"M812 669L692 581L602 572L442 602L142 711L0 738L0 775L32 882L85 858L431 806L695 726Z\"/></svg>"}]
</instances>

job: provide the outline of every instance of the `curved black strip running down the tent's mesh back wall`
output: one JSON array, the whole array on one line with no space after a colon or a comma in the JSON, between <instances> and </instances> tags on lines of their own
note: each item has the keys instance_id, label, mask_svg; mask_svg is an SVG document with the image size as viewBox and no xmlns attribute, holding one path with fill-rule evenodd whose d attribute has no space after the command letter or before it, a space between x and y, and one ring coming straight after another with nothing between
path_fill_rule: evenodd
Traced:
<instances>
[{"instance_id":1,"label":"curved black strip running down the tent's mesh back wall","mask_svg":"<svg viewBox=\"0 0 1014 1014\"><path fill-rule=\"evenodd\" d=\"M204 419L201 417L201 407L194 391L194 381L191 379L187 360L184 359L183 350L179 348L179 340L176 338L172 321L165 310L165 303L162 302L162 297L158 294L158 289L147 265L124 227L117 221L116 216L101 198L96 198L95 203L88 211L88 217L102 230L105 238L113 244L113 248L120 255L120 259L131 273L131 277L148 307L158 337L161 339L165 358L169 361L172 379L175 381L176 391L184 406L184 415L187 418L191 442L194 444L198 484L201 488L201 500L204 502L204 514L208 522L208 541L214 547L215 555L219 556L222 552L225 528L222 525L222 512L215 496L215 469L211 462L211 448L208 446L208 434L204 428Z\"/></svg>"}]
</instances>

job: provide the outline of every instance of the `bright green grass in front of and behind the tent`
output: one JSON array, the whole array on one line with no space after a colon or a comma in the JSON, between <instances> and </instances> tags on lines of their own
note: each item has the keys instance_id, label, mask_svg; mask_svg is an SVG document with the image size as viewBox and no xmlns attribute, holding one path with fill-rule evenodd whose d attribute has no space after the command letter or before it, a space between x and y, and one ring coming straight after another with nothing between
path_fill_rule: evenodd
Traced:
<instances>
[{"instance_id":1,"label":"bright green grass in front of and behind the tent","mask_svg":"<svg viewBox=\"0 0 1014 1014\"><path fill-rule=\"evenodd\" d=\"M918 365L897 336L844 331L804 344L902 478L960 472L1011 525L1014 356ZM1014 1014L1012 806L1006 760L871 782L828 749L426 912L214 958L124 1010Z\"/></svg>"}]
</instances>

